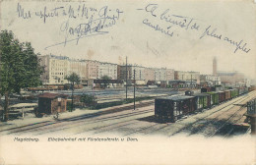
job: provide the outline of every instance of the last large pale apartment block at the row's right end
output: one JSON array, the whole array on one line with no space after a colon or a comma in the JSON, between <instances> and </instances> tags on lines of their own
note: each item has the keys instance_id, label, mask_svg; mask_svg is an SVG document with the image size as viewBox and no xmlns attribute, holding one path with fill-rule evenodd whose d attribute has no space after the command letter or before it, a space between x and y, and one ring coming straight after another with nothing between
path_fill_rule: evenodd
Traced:
<instances>
[{"instance_id":1,"label":"last large pale apartment block at the row's right end","mask_svg":"<svg viewBox=\"0 0 256 165\"><path fill-rule=\"evenodd\" d=\"M174 79L179 81L196 81L200 83L200 73L199 72L186 72L186 71L175 71Z\"/></svg>"}]
</instances>

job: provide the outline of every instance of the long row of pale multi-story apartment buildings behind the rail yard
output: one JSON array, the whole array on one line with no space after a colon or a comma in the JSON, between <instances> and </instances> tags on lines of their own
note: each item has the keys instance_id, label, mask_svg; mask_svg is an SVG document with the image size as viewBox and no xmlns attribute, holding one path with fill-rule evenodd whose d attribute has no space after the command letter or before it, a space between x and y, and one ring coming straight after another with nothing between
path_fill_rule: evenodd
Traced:
<instances>
[{"instance_id":1,"label":"long row of pale multi-story apartment buildings behind the rail yard","mask_svg":"<svg viewBox=\"0 0 256 165\"><path fill-rule=\"evenodd\" d=\"M199 72L174 71L166 68L147 68L136 65L117 65L113 63L99 62L95 60L78 60L65 56L44 55L39 56L40 65L44 66L42 75L44 84L68 83L65 77L76 73L82 83L92 80L101 80L107 76L111 80L136 83L190 83L193 85L207 83L206 85L221 84L219 75L200 75ZM226 78L224 77L224 80ZM228 79L228 78L227 78ZM242 79L239 78L239 79Z\"/></svg>"}]
</instances>

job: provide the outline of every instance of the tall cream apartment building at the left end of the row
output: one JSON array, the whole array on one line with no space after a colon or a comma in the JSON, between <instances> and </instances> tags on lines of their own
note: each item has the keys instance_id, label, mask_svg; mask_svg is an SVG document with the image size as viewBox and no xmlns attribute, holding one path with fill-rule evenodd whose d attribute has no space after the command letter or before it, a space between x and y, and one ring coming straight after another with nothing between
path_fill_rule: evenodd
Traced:
<instances>
[{"instance_id":1,"label":"tall cream apartment building at the left end of the row","mask_svg":"<svg viewBox=\"0 0 256 165\"><path fill-rule=\"evenodd\" d=\"M41 76L42 83L61 84L67 83L65 77L68 75L68 57L44 55L39 56L40 65L44 66Z\"/></svg>"}]
</instances>

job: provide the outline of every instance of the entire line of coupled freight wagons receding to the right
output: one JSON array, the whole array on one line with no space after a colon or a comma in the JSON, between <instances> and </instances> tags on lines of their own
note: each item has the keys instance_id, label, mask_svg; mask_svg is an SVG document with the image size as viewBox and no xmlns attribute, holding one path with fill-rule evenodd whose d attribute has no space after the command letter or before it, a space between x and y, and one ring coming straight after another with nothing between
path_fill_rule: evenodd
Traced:
<instances>
[{"instance_id":1,"label":"entire line of coupled freight wagons receding to the right","mask_svg":"<svg viewBox=\"0 0 256 165\"><path fill-rule=\"evenodd\" d=\"M185 95L156 98L155 119L160 123L174 123L184 116L209 109L253 89L254 86L228 89L222 86L204 87L197 94L186 91Z\"/></svg>"}]
</instances>

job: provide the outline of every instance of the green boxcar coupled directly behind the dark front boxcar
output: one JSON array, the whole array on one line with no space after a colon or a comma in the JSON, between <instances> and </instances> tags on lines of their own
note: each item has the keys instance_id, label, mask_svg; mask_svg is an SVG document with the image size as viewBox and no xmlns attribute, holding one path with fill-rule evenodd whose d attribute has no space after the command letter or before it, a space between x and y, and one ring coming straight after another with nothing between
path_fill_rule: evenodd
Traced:
<instances>
[{"instance_id":1,"label":"green boxcar coupled directly behind the dark front boxcar","mask_svg":"<svg viewBox=\"0 0 256 165\"><path fill-rule=\"evenodd\" d=\"M196 99L196 109L201 111L211 107L211 94L199 93L194 94Z\"/></svg>"}]
</instances>

